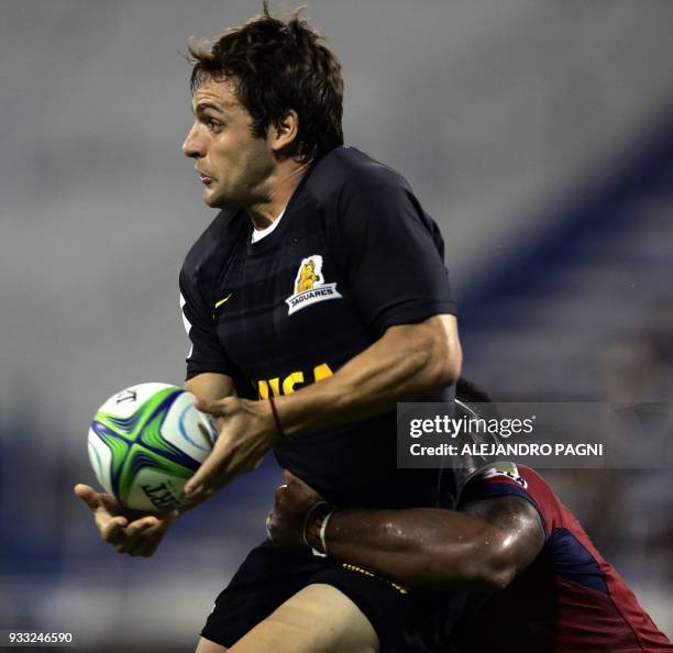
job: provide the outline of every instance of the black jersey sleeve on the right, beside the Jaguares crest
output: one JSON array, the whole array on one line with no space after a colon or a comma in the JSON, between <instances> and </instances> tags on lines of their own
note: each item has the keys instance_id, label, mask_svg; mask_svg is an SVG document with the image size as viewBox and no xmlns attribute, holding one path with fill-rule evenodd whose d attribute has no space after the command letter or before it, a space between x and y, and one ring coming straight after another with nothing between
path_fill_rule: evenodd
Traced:
<instances>
[{"instance_id":1,"label":"black jersey sleeve on the right, beside the Jaguares crest","mask_svg":"<svg viewBox=\"0 0 673 653\"><path fill-rule=\"evenodd\" d=\"M439 229L394 173L344 186L339 202L338 264L376 335L396 324L454 313Z\"/></svg>"}]
</instances>

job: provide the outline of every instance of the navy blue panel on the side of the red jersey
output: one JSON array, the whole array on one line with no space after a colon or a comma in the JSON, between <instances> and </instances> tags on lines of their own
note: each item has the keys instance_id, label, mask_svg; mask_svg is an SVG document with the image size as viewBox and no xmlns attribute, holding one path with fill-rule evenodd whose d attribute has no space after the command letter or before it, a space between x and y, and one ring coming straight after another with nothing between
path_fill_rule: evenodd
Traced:
<instances>
[{"instance_id":1,"label":"navy blue panel on the side of the red jersey","mask_svg":"<svg viewBox=\"0 0 673 653\"><path fill-rule=\"evenodd\" d=\"M554 529L548 549L553 560L554 572L559 576L608 596L605 574L600 571L596 558L571 531Z\"/></svg>"}]
</instances>

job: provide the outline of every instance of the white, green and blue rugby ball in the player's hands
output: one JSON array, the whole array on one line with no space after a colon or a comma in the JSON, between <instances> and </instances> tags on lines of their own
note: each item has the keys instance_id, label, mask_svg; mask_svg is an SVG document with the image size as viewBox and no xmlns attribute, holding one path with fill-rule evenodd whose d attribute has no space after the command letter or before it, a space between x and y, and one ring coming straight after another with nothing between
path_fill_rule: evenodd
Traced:
<instances>
[{"instance_id":1,"label":"white, green and blue rugby ball in the player's hands","mask_svg":"<svg viewBox=\"0 0 673 653\"><path fill-rule=\"evenodd\" d=\"M98 482L125 508L164 512L178 508L187 480L218 436L214 420L194 395L167 384L125 388L96 412L89 460Z\"/></svg>"}]
</instances>

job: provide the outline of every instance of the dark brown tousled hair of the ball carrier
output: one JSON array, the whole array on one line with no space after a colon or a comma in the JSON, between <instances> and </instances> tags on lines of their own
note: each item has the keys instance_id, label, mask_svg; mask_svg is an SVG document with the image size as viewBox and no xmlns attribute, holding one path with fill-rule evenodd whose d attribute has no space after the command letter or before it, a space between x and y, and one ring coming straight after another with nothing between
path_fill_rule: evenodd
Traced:
<instances>
[{"instance_id":1,"label":"dark brown tousled hair of the ball carrier","mask_svg":"<svg viewBox=\"0 0 673 653\"><path fill-rule=\"evenodd\" d=\"M191 92L209 78L230 78L238 99L253 118L253 135L265 137L288 109L299 117L299 161L343 145L341 64L323 37L298 12L284 22L264 13L231 27L211 46L189 44Z\"/></svg>"}]
</instances>

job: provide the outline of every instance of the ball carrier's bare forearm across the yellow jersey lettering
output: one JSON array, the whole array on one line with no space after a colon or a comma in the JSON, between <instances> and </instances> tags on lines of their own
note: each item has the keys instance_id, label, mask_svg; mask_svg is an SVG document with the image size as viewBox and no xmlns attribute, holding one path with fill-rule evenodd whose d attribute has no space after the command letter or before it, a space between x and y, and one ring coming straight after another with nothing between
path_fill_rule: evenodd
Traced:
<instances>
[{"instance_id":1,"label":"ball carrier's bare forearm across the yellow jersey lettering","mask_svg":"<svg viewBox=\"0 0 673 653\"><path fill-rule=\"evenodd\" d=\"M336 374L276 399L289 436L365 419L451 385L461 369L453 316L393 326Z\"/></svg>"}]
</instances>

